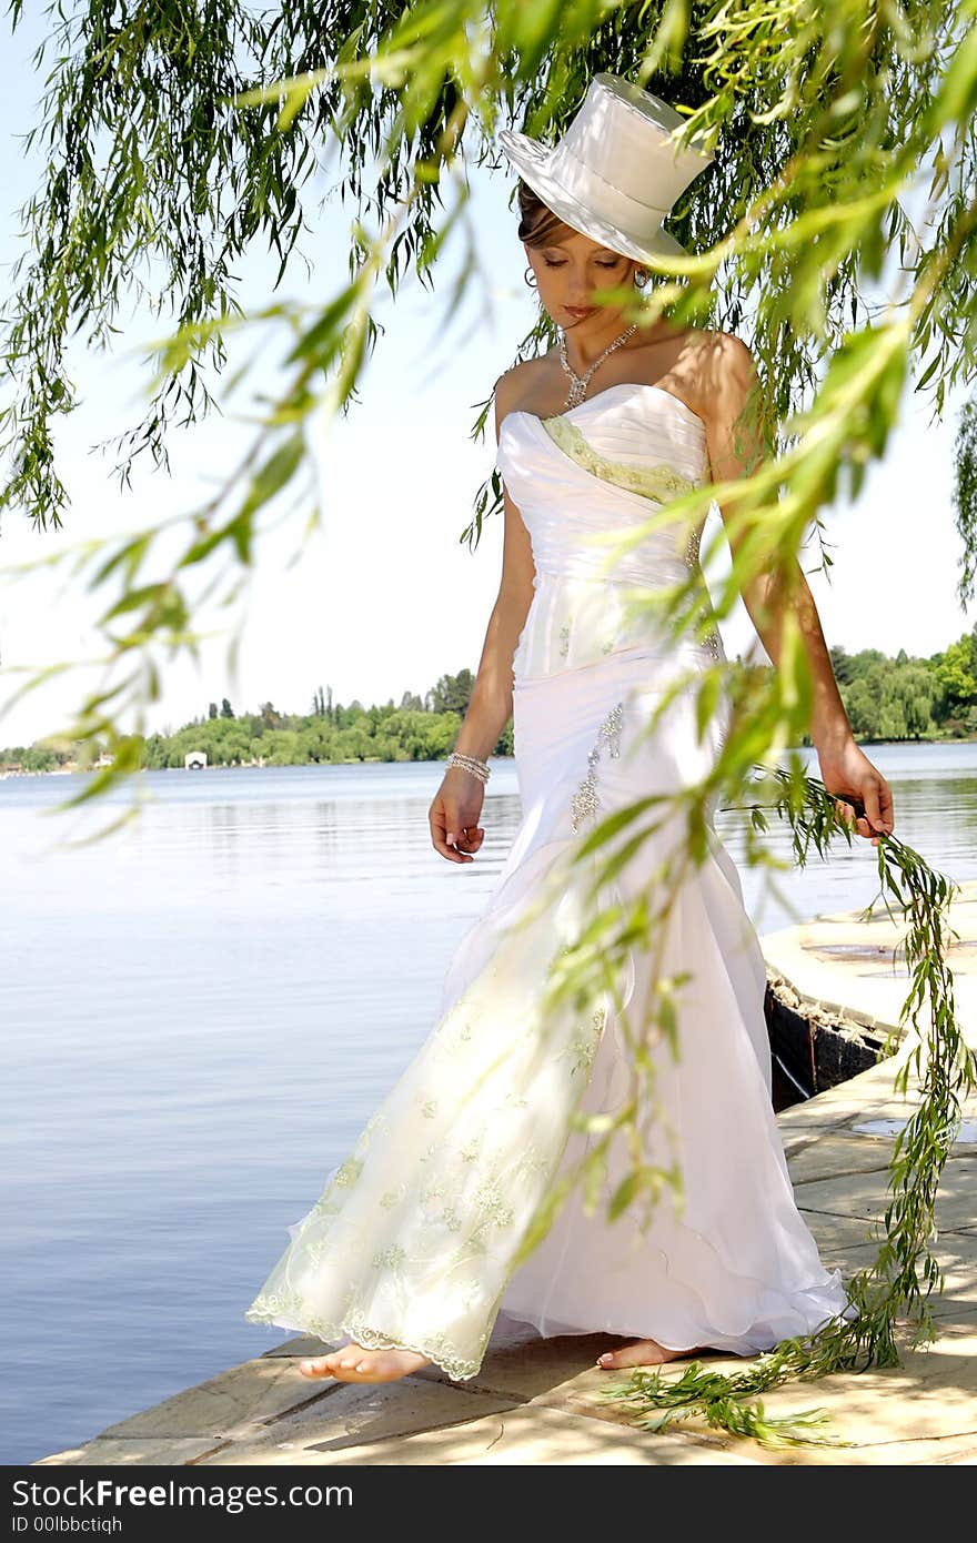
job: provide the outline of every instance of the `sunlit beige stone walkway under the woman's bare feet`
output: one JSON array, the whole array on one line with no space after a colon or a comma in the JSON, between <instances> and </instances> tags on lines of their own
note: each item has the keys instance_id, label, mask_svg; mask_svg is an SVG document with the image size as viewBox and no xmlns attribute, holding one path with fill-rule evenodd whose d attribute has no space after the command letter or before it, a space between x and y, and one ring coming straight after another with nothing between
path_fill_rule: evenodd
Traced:
<instances>
[{"instance_id":1,"label":"sunlit beige stone walkway under the woman's bare feet","mask_svg":"<svg viewBox=\"0 0 977 1543\"><path fill-rule=\"evenodd\" d=\"M977 884L952 907L949 952L958 1014L977 1034ZM801 1011L860 1025L898 1018L908 989L898 930L857 913L762 938L770 977ZM900 1054L904 1054L900 1052ZM798 1205L829 1267L846 1275L875 1254L894 1131L912 1100L894 1094L895 1058L779 1116ZM323 1349L304 1336L187 1389L82 1447L40 1464L929 1464L977 1461L977 1102L965 1111L938 1202L938 1338L904 1349L901 1366L789 1384L764 1398L769 1413L824 1409L846 1446L769 1449L704 1426L648 1433L600 1396L627 1372L602 1372L607 1335L540 1339L499 1319L480 1373L454 1384L435 1367L386 1386L310 1384L296 1359ZM710 1366L742 1367L719 1356Z\"/></svg>"}]
</instances>

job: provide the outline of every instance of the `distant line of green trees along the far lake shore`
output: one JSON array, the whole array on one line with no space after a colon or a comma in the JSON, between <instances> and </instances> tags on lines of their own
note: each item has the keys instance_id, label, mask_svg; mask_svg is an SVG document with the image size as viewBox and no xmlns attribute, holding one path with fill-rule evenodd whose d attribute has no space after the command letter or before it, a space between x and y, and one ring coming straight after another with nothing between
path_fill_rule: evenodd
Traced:
<instances>
[{"instance_id":1,"label":"distant line of green trees along the far lake shore","mask_svg":"<svg viewBox=\"0 0 977 1543\"><path fill-rule=\"evenodd\" d=\"M855 738L861 741L969 739L977 734L977 626L943 653L915 659L900 648L889 659L878 648L849 654L832 648L835 679ZM762 667L767 668L767 667ZM191 750L208 765L309 765L357 761L440 761L452 748L475 679L471 670L443 674L423 697L404 691L395 705L364 707L357 697L333 702L319 687L309 713L279 713L262 702L236 714L227 697L210 702L204 717L145 739L150 770L182 767ZM512 721L492 751L512 755ZM40 741L0 750L0 770L56 772L76 764L69 741Z\"/></svg>"}]
</instances>

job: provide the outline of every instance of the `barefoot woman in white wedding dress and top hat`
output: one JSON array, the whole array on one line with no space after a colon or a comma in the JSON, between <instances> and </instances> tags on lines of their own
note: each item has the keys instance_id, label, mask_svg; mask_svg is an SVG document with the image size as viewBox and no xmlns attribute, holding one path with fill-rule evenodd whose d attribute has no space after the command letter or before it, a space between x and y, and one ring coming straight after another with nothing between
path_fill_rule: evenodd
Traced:
<instances>
[{"instance_id":1,"label":"barefoot woman in white wedding dress and top hat","mask_svg":"<svg viewBox=\"0 0 977 1543\"><path fill-rule=\"evenodd\" d=\"M753 381L749 350L665 319L625 326L620 307L594 304L602 289L641 284L642 252L676 250L661 221L708 159L673 154L679 122L656 97L600 74L556 148L502 136L522 173L519 235L562 339L497 383L503 574L431 836L448 861L474 861L483 758L509 714L523 818L486 912L451 961L441 1018L289 1228L290 1245L247 1310L327 1341L350 1336L299 1361L310 1378L392 1381L428 1361L471 1378L500 1310L540 1333L624 1338L603 1367L699 1349L750 1355L846 1310L793 1200L770 1103L764 960L712 824L705 861L681 878L654 947L631 947L593 1012L545 1000L551 963L573 952L593 909L588 867L574 863L580 836L637 798L699 782L724 731L721 711L698 734L691 688L722 657L718 633L673 639L627 605L634 589L699 574L699 532L684 546L668 526L642 534L613 577L607 549L588 540L745 466L735 426ZM800 568L793 593L821 775L844 818L854 818L844 799L864 804L855 829L878 841L892 829L891 790L852 738ZM773 586L758 580L744 602L776 663ZM681 819L664 821L619 869L611 901L653 890L682 841ZM571 1191L520 1254L588 1151L574 1117L613 1113L628 1097L631 1046L662 978L685 984L678 1057L661 1035L644 1040L659 1116L645 1160L665 1168L674 1157L684 1204L659 1200L637 1227L633 1211L613 1224L605 1205L587 1213ZM610 1148L605 1200L628 1163Z\"/></svg>"}]
</instances>

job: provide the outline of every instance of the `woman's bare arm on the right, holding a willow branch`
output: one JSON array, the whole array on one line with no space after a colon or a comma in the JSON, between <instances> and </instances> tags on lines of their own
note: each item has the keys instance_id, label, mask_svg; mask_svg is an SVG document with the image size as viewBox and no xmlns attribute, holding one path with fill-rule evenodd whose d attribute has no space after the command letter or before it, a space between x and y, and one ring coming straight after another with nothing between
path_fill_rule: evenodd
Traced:
<instances>
[{"instance_id":1,"label":"woman's bare arm on the right, holding a willow branch","mask_svg":"<svg viewBox=\"0 0 977 1543\"><path fill-rule=\"evenodd\" d=\"M702 392L705 404L702 417L712 478L725 481L753 471L762 458L764 444L755 410L758 378L753 356L747 346L730 333L715 333L713 343L708 390ZM735 557L742 535L735 535L729 529L729 514L722 506L721 512ZM810 667L813 701L809 733L818 753L821 779L829 792L838 795L841 818L854 822L858 835L871 836L877 846L875 832L887 835L892 830L892 790L855 742L818 608L801 565L796 557L781 562L776 568L747 580L741 594L775 668L781 656L784 613L787 609L795 613ZM847 798L864 804L864 816L855 821L855 810L844 802Z\"/></svg>"}]
</instances>

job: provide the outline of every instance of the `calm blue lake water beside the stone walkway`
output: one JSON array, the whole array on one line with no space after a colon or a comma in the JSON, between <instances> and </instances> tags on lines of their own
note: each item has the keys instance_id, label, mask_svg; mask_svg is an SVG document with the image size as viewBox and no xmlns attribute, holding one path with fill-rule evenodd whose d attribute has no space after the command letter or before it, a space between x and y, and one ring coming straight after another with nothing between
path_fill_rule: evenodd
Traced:
<instances>
[{"instance_id":1,"label":"calm blue lake water beside the stone walkway","mask_svg":"<svg viewBox=\"0 0 977 1543\"><path fill-rule=\"evenodd\" d=\"M901 839L977 876L977 745L869 755ZM519 822L497 761L483 853L445 863L426 821L441 770L150 773L140 821L76 849L59 842L106 805L79 826L45 813L77 779L0 779L0 1461L287 1338L244 1308L431 1031ZM739 858L732 816L718 827ZM840 839L773 898L741 875L764 932L871 900L875 849Z\"/></svg>"}]
</instances>

